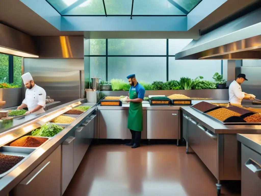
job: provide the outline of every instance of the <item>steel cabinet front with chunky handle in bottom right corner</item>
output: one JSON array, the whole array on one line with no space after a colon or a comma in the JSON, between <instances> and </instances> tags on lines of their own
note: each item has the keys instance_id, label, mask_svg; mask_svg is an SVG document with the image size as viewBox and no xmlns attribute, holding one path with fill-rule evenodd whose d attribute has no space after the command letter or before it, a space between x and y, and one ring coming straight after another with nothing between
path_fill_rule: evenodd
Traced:
<instances>
[{"instance_id":1,"label":"steel cabinet front with chunky handle in bottom right corner","mask_svg":"<svg viewBox=\"0 0 261 196\"><path fill-rule=\"evenodd\" d=\"M261 195L261 154L241 144L241 195Z\"/></svg>"}]
</instances>

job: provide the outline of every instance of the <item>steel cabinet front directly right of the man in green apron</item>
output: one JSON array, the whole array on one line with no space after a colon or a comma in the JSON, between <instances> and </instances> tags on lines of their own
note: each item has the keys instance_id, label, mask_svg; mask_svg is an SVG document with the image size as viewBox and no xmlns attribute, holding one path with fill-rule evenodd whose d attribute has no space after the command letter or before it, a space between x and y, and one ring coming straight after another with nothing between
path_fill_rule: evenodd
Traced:
<instances>
[{"instance_id":1,"label":"steel cabinet front directly right of the man in green apron","mask_svg":"<svg viewBox=\"0 0 261 196\"><path fill-rule=\"evenodd\" d=\"M178 110L147 110L147 139L179 139Z\"/></svg>"}]
</instances>

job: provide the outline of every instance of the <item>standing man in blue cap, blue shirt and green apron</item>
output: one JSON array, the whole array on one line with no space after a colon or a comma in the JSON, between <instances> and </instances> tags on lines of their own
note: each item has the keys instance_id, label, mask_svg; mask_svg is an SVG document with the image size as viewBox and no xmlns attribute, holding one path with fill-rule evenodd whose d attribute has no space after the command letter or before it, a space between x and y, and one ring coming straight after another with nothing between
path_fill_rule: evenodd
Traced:
<instances>
[{"instance_id":1,"label":"standing man in blue cap, blue shirt and green apron","mask_svg":"<svg viewBox=\"0 0 261 196\"><path fill-rule=\"evenodd\" d=\"M128 114L128 129L131 131L132 140L127 143L127 146L138 148L140 146L141 131L142 131L142 101L145 94L145 89L141 86L135 77L135 74L127 76L131 88L127 102L130 102Z\"/></svg>"}]
</instances>

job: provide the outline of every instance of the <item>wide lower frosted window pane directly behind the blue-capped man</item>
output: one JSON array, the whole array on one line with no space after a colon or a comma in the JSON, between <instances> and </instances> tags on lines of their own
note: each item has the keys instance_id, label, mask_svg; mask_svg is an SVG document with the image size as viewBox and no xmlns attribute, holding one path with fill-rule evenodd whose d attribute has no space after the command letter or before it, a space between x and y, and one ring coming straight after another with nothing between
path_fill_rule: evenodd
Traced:
<instances>
[{"instance_id":1,"label":"wide lower frosted window pane directly behind the blue-capped man","mask_svg":"<svg viewBox=\"0 0 261 196\"><path fill-rule=\"evenodd\" d=\"M166 82L166 57L108 57L108 80L113 78L127 82L127 76L135 73L138 81Z\"/></svg>"}]
</instances>

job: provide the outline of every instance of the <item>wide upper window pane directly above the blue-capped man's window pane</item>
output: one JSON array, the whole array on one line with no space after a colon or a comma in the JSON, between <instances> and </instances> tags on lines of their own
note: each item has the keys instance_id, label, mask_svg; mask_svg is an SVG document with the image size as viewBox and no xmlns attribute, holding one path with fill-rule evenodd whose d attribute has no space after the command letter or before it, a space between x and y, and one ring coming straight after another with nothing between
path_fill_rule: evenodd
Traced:
<instances>
[{"instance_id":1,"label":"wide upper window pane directly above the blue-capped man's window pane","mask_svg":"<svg viewBox=\"0 0 261 196\"><path fill-rule=\"evenodd\" d=\"M108 39L108 55L166 55L166 39Z\"/></svg>"}]
</instances>

